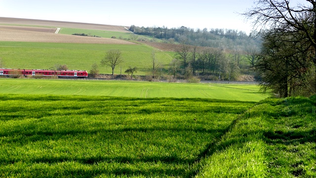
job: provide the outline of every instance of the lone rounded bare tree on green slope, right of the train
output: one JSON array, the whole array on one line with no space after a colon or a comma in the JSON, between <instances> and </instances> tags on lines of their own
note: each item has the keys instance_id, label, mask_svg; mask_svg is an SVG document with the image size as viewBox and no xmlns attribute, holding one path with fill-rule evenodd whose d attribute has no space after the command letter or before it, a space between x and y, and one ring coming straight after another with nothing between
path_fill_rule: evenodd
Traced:
<instances>
[{"instance_id":1,"label":"lone rounded bare tree on green slope, right of the train","mask_svg":"<svg viewBox=\"0 0 316 178\"><path fill-rule=\"evenodd\" d=\"M108 52L105 54L105 57L101 60L101 65L102 66L109 66L112 68L112 76L114 78L114 69L115 67L122 63L122 53L119 49L110 49Z\"/></svg>"}]
</instances>

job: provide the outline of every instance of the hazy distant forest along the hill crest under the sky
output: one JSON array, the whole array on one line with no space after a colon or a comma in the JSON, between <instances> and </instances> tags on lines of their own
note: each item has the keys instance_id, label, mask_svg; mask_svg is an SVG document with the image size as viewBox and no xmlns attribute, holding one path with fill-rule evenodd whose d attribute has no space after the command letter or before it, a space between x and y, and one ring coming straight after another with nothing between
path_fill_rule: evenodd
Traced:
<instances>
[{"instance_id":1,"label":"hazy distant forest along the hill crest under the sky","mask_svg":"<svg viewBox=\"0 0 316 178\"><path fill-rule=\"evenodd\" d=\"M233 29L193 29L187 27L137 27L131 25L129 30L136 35L145 35L164 40L165 43L182 43L188 45L216 47L221 49L247 51L249 48L259 48L260 37L253 38L245 32Z\"/></svg>"}]
</instances>

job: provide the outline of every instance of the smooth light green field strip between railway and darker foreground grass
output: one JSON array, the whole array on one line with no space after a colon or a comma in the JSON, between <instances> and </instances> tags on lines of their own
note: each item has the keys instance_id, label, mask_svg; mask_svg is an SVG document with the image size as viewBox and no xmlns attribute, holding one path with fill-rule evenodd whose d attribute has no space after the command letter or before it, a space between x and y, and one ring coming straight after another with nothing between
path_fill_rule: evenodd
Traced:
<instances>
[{"instance_id":1,"label":"smooth light green field strip between railway and darker foreground grass","mask_svg":"<svg viewBox=\"0 0 316 178\"><path fill-rule=\"evenodd\" d=\"M118 97L211 98L260 101L269 96L256 85L189 84L135 81L0 79L0 93Z\"/></svg>"}]
</instances>

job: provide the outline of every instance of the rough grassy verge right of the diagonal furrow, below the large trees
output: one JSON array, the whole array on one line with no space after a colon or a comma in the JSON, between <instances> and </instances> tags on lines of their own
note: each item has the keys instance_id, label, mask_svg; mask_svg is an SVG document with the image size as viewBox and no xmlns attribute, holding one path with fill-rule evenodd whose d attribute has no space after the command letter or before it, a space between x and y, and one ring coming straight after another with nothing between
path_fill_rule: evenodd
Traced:
<instances>
[{"instance_id":1,"label":"rough grassy verge right of the diagonal furrow, below the large trees","mask_svg":"<svg viewBox=\"0 0 316 178\"><path fill-rule=\"evenodd\" d=\"M269 98L209 148L197 178L315 178L315 96Z\"/></svg>"}]
</instances>

